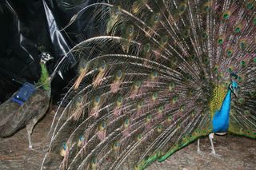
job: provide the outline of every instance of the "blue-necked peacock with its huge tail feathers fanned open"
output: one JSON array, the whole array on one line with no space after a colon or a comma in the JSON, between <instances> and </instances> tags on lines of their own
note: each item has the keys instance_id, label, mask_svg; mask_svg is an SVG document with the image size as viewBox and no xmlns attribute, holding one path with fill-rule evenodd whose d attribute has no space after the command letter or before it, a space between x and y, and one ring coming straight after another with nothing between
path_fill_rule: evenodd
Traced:
<instances>
[{"instance_id":1,"label":"blue-necked peacock with its huge tail feathers fanned open","mask_svg":"<svg viewBox=\"0 0 256 170\"><path fill-rule=\"evenodd\" d=\"M143 169L204 136L214 156L214 134L256 138L254 0L94 2L68 26L85 14L104 32L69 52L41 169Z\"/></svg>"}]
</instances>

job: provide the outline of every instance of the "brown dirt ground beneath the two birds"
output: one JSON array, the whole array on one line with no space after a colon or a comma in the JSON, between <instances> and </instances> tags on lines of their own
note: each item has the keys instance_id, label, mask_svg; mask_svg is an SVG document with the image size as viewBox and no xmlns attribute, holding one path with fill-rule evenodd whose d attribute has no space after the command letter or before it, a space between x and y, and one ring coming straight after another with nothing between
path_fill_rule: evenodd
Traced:
<instances>
[{"instance_id":1,"label":"brown dirt ground beneath the two birds","mask_svg":"<svg viewBox=\"0 0 256 170\"><path fill-rule=\"evenodd\" d=\"M14 136L0 138L0 169L38 170L44 155L42 146L46 145L46 136L50 128L53 114L47 114L36 125L32 135L34 148L28 148L26 129L21 129ZM201 140L201 150L197 153L197 142L174 153L162 163L151 164L150 170L157 169L256 169L256 140L240 136L216 136L214 139L216 152L222 156L210 156L210 142Z\"/></svg>"}]
</instances>

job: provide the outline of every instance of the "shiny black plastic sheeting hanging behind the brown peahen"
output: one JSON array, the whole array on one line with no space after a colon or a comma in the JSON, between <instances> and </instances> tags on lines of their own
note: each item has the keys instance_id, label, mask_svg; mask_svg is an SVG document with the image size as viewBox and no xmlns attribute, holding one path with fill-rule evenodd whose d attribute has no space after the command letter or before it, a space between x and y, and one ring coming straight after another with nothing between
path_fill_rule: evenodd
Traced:
<instances>
[{"instance_id":1,"label":"shiny black plastic sheeting hanging behind the brown peahen","mask_svg":"<svg viewBox=\"0 0 256 170\"><path fill-rule=\"evenodd\" d=\"M94 8L79 14L66 28L74 15L97 0L0 0L0 103L14 93L23 82L34 83L40 77L38 55L52 54L54 61L47 67L52 73L55 65L76 44L101 34L102 28L94 22ZM65 30L63 30L65 28ZM69 67L53 81L54 100L64 93L62 89L74 77L75 61L67 56Z\"/></svg>"}]
</instances>

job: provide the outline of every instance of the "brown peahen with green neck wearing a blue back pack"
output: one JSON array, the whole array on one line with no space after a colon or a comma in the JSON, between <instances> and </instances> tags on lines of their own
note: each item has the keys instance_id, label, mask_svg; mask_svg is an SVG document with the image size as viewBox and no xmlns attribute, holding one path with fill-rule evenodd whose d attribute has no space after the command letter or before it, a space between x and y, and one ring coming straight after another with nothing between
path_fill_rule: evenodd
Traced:
<instances>
[{"instance_id":1,"label":"brown peahen with green neck wearing a blue back pack","mask_svg":"<svg viewBox=\"0 0 256 170\"><path fill-rule=\"evenodd\" d=\"M0 136L11 136L26 126L29 148L32 148L31 133L34 125L45 115L50 101L51 78L46 62L53 57L43 52L40 58L41 77L38 83L25 83L13 97L0 105Z\"/></svg>"}]
</instances>

